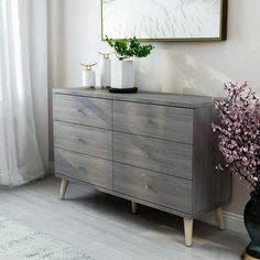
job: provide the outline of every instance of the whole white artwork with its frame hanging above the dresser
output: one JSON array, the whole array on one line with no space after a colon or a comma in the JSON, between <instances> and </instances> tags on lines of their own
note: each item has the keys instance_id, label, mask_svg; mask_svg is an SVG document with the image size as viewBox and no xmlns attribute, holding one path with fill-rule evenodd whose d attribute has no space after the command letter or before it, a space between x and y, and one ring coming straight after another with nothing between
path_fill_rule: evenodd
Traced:
<instances>
[{"instance_id":1,"label":"whole white artwork with its frame hanging above the dresser","mask_svg":"<svg viewBox=\"0 0 260 260\"><path fill-rule=\"evenodd\" d=\"M102 39L220 41L227 0L101 0Z\"/></svg>"}]
</instances>

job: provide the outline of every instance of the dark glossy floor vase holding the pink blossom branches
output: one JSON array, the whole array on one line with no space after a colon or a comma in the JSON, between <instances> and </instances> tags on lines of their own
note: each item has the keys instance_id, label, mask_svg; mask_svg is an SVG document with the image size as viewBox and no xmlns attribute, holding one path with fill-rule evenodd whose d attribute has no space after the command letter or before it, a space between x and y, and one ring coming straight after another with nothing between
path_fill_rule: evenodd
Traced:
<instances>
[{"instance_id":1,"label":"dark glossy floor vase holding the pink blossom branches","mask_svg":"<svg viewBox=\"0 0 260 260\"><path fill-rule=\"evenodd\" d=\"M251 194L243 212L245 225L251 242L247 247L247 254L260 259L260 195Z\"/></svg>"}]
</instances>

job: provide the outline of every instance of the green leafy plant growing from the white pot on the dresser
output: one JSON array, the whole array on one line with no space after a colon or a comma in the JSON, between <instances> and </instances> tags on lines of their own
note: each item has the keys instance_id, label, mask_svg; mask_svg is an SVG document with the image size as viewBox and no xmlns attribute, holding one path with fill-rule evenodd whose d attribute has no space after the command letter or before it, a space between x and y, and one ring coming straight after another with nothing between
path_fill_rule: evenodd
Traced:
<instances>
[{"instance_id":1,"label":"green leafy plant growing from the white pot on the dresser","mask_svg":"<svg viewBox=\"0 0 260 260\"><path fill-rule=\"evenodd\" d=\"M118 41L113 41L106 36L106 41L115 50L115 54L119 61L129 57L147 57L154 48L151 44L141 44L136 36Z\"/></svg>"}]
</instances>

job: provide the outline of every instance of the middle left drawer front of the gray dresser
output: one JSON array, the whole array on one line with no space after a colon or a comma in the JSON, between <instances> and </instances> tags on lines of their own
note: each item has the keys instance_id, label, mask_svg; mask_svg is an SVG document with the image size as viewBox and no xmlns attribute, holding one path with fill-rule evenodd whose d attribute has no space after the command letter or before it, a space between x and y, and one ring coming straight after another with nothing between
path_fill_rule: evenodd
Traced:
<instances>
[{"instance_id":1,"label":"middle left drawer front of the gray dresser","mask_svg":"<svg viewBox=\"0 0 260 260\"><path fill-rule=\"evenodd\" d=\"M112 132L105 129L54 121L54 145L112 160Z\"/></svg>"}]
</instances>

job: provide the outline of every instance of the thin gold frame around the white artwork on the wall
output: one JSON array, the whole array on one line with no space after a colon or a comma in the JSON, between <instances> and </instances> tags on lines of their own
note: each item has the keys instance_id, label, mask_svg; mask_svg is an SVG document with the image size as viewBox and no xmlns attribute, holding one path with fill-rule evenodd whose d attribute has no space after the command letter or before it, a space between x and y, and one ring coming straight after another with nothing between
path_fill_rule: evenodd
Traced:
<instances>
[{"instance_id":1,"label":"thin gold frame around the white artwork on the wall","mask_svg":"<svg viewBox=\"0 0 260 260\"><path fill-rule=\"evenodd\" d=\"M101 40L106 41L104 30L104 1L100 0L101 6ZM131 0L129 0L131 1ZM217 37L138 37L143 42L220 42L227 40L227 17L228 17L228 0L220 1L220 18L219 18L219 35ZM110 36L109 36L110 37ZM111 37L112 40L121 40L120 37Z\"/></svg>"}]
</instances>

